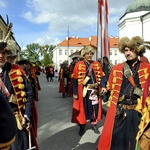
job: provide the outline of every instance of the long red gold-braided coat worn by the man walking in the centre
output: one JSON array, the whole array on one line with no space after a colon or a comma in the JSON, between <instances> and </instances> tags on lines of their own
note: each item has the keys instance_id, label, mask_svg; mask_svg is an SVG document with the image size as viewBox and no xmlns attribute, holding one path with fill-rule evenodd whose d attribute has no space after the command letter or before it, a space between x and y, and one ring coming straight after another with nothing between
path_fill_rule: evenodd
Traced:
<instances>
[{"instance_id":1,"label":"long red gold-braided coat worn by the man walking in the centre","mask_svg":"<svg viewBox=\"0 0 150 150\"><path fill-rule=\"evenodd\" d=\"M104 76L104 73L102 71L102 68L100 64L96 61L92 62L94 74L96 77L96 83L100 85L101 77ZM84 61L79 61L74 68L73 71L74 79L78 80L78 99L74 99L73 102L73 110L72 110L72 122L78 123L78 124L86 124L86 116L84 112L84 104L83 104L83 81L86 76L86 65L84 64ZM74 85L73 85L74 86ZM100 90L100 86L99 86ZM74 94L74 93L73 93ZM97 120L100 120L102 118L102 100L99 99L99 110L98 110L98 117Z\"/></svg>"}]
</instances>

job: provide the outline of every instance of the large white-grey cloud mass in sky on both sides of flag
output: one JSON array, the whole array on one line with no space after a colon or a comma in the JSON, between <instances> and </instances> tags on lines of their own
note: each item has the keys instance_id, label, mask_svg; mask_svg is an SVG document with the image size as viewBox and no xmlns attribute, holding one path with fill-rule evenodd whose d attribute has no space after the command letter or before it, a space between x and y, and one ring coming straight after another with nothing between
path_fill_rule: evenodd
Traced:
<instances>
[{"instance_id":1,"label":"large white-grey cloud mass in sky on both sides of flag","mask_svg":"<svg viewBox=\"0 0 150 150\"><path fill-rule=\"evenodd\" d=\"M120 17L132 1L134 0L108 0L109 26L112 29L118 25ZM26 0L26 6L26 11L22 12L23 18L34 26L45 26L35 42L57 43L58 40L65 39L68 27L70 36L88 37L97 34L98 0ZM110 32L111 28L109 27ZM32 34L35 34L34 31Z\"/></svg>"}]
</instances>

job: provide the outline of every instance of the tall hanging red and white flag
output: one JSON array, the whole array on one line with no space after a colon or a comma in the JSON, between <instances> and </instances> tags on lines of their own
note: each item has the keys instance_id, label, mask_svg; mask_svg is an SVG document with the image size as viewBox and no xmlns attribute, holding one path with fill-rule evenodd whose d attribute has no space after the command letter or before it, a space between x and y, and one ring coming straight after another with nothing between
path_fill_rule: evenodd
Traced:
<instances>
[{"instance_id":1,"label":"tall hanging red and white flag","mask_svg":"<svg viewBox=\"0 0 150 150\"><path fill-rule=\"evenodd\" d=\"M98 0L98 29L97 29L97 59L107 56L109 58L110 46L108 37L108 2Z\"/></svg>"}]
</instances>

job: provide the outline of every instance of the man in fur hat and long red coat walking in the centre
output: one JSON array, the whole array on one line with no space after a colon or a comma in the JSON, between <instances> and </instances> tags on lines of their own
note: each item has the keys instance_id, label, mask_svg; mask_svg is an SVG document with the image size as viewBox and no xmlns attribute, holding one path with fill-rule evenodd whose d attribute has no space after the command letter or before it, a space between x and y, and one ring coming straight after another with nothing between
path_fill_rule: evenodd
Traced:
<instances>
[{"instance_id":1,"label":"man in fur hat and long red coat walking in the centre","mask_svg":"<svg viewBox=\"0 0 150 150\"><path fill-rule=\"evenodd\" d=\"M104 73L101 65L92 60L94 46L86 46L81 50L83 61L79 61L74 68L73 74L73 111L72 122L80 127L79 135L85 133L87 120L90 120L92 129L99 134L98 121L102 118L102 101L100 91L105 93Z\"/></svg>"}]
</instances>

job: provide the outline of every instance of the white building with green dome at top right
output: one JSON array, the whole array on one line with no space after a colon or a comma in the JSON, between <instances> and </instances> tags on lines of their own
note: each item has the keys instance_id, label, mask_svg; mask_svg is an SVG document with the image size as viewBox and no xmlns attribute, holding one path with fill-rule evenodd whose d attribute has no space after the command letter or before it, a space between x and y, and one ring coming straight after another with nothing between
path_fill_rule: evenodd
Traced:
<instances>
[{"instance_id":1,"label":"white building with green dome at top right","mask_svg":"<svg viewBox=\"0 0 150 150\"><path fill-rule=\"evenodd\" d=\"M120 18L118 26L120 38L140 36L145 41L150 41L150 0L132 2ZM150 56L149 50L146 51L145 56ZM119 55L119 57L124 60L123 55ZM148 59L150 61L150 57Z\"/></svg>"}]
</instances>

